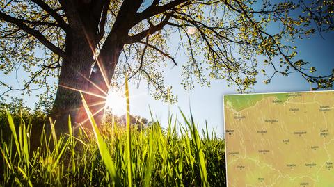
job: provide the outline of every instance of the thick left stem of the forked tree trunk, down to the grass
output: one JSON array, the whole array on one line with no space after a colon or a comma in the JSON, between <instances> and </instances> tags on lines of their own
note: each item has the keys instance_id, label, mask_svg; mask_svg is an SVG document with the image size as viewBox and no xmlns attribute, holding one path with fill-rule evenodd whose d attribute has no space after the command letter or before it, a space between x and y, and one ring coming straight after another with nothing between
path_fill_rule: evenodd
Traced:
<instances>
[{"instance_id":1,"label":"thick left stem of the forked tree trunk, down to the grass","mask_svg":"<svg viewBox=\"0 0 334 187\"><path fill-rule=\"evenodd\" d=\"M101 95L99 89L104 86L100 80L99 72L94 72L90 76L93 56L97 43L102 38L99 29L100 16L106 10L110 1L61 1L64 7L70 28L66 33L65 53L69 58L63 61L61 74L58 80L58 90L54 101L54 108L51 117L56 120L58 132L67 132L68 115L71 115L72 125L87 120L86 112L81 102L79 90L84 93L88 106L92 107L92 113L96 108L103 107L104 104L96 105L96 102L103 102L105 99L88 95L85 92L92 92ZM98 68L95 70L99 70ZM113 71L112 71L113 72ZM91 77L91 78L90 78ZM88 79L92 79L88 81ZM93 86L95 85L95 86ZM103 113L103 111L101 111Z\"/></svg>"}]
</instances>

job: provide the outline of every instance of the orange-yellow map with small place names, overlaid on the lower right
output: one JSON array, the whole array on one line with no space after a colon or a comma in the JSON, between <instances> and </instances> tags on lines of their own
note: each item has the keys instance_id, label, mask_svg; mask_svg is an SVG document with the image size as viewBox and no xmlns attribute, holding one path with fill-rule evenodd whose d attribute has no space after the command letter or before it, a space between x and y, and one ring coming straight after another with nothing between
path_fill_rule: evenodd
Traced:
<instances>
[{"instance_id":1,"label":"orange-yellow map with small place names, overlaid on the lower right","mask_svg":"<svg viewBox=\"0 0 334 187\"><path fill-rule=\"evenodd\" d=\"M228 187L334 187L334 92L225 95Z\"/></svg>"}]
</instances>

